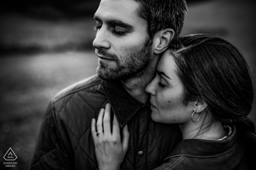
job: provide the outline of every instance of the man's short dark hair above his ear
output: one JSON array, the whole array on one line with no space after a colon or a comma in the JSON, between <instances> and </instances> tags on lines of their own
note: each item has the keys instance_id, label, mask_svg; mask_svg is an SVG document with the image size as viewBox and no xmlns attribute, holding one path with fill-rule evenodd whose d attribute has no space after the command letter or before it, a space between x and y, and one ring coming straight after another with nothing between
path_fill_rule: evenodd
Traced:
<instances>
[{"instance_id":1,"label":"man's short dark hair above his ear","mask_svg":"<svg viewBox=\"0 0 256 170\"><path fill-rule=\"evenodd\" d=\"M185 0L135 0L140 4L138 15L147 20L147 32L152 40L163 29L172 28L177 37L182 29L187 5Z\"/></svg>"}]
</instances>

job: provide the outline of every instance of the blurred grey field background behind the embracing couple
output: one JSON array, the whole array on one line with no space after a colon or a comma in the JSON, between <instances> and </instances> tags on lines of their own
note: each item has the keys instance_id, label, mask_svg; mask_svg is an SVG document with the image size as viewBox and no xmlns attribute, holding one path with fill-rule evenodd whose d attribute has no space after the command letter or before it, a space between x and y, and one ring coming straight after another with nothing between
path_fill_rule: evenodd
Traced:
<instances>
[{"instance_id":1,"label":"blurred grey field background behind the embracing couple","mask_svg":"<svg viewBox=\"0 0 256 170\"><path fill-rule=\"evenodd\" d=\"M232 41L243 51L255 79L256 1L187 3L182 33L210 33ZM98 4L99 0L1 1L0 169L10 147L18 157L12 169L28 169L49 100L96 73L92 43ZM250 117L255 121L255 107Z\"/></svg>"}]
</instances>

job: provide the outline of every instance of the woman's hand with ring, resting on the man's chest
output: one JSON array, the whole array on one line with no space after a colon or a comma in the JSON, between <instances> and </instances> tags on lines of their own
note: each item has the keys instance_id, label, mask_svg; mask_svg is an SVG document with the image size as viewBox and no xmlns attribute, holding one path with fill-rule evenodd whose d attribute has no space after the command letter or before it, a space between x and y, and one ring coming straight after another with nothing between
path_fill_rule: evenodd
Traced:
<instances>
[{"instance_id":1,"label":"woman's hand with ring, resting on the man's chest","mask_svg":"<svg viewBox=\"0 0 256 170\"><path fill-rule=\"evenodd\" d=\"M106 104L105 113L102 108L98 115L97 131L95 129L96 120L91 122L91 134L95 146L95 154L98 161L99 170L119 170L128 150L129 131L127 124L123 129L123 141L121 142L120 128L114 115L113 132L110 130L110 109L109 103ZM103 122L102 122L103 119ZM103 123L103 127L102 127ZM104 131L103 131L104 129Z\"/></svg>"}]
</instances>

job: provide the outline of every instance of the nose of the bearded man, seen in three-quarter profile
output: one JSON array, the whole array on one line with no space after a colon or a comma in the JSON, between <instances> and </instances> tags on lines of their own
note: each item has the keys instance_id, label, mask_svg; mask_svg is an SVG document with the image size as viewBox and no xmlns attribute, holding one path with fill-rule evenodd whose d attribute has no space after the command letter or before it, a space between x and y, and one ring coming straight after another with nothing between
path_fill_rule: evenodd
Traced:
<instances>
[{"instance_id":1,"label":"nose of the bearded man, seen in three-quarter profile","mask_svg":"<svg viewBox=\"0 0 256 170\"><path fill-rule=\"evenodd\" d=\"M98 30L93 41L93 47L97 49L110 48L109 35L106 28L101 27L101 29Z\"/></svg>"}]
</instances>

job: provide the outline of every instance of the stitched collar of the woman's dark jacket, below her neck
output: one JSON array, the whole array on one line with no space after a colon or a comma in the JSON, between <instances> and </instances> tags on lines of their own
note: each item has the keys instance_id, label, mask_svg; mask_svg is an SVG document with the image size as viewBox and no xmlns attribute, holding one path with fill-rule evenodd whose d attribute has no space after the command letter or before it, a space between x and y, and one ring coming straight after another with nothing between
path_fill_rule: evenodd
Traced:
<instances>
[{"instance_id":1,"label":"stitched collar of the woman's dark jacket, below her neck","mask_svg":"<svg viewBox=\"0 0 256 170\"><path fill-rule=\"evenodd\" d=\"M188 156L197 158L213 158L226 154L237 145L236 127L231 125L232 134L222 141L211 141L203 139L184 139L170 153L166 159L177 156Z\"/></svg>"}]
</instances>

